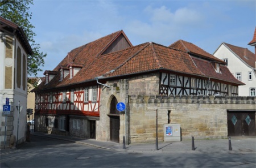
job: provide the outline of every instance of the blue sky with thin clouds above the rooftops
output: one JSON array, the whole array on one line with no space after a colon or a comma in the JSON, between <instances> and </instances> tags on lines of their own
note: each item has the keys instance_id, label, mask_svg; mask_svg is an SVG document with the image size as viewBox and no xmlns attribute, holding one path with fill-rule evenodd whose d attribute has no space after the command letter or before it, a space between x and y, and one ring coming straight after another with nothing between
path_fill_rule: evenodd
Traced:
<instances>
[{"instance_id":1,"label":"blue sky with thin clouds above the rooftops","mask_svg":"<svg viewBox=\"0 0 256 168\"><path fill-rule=\"evenodd\" d=\"M47 53L38 76L69 51L123 30L131 44L169 46L185 40L213 54L222 42L248 48L256 25L254 0L34 0L34 38Z\"/></svg>"}]
</instances>

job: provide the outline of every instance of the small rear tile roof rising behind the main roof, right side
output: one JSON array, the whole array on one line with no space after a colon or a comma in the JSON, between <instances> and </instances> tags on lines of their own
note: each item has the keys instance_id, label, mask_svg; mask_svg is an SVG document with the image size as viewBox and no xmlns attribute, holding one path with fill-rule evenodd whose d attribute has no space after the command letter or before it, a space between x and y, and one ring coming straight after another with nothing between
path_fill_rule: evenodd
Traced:
<instances>
[{"instance_id":1,"label":"small rear tile roof rising behind the main roof, right side","mask_svg":"<svg viewBox=\"0 0 256 168\"><path fill-rule=\"evenodd\" d=\"M192 44L191 42L187 42L184 40L178 40L178 41L174 42L173 44L171 44L169 47L187 52L189 54L197 55L202 58L207 58L212 61L216 61L218 63L225 64L225 62L222 61L221 59L214 57L212 54L207 53L207 51L199 48L198 46L196 46L195 44Z\"/></svg>"}]
</instances>

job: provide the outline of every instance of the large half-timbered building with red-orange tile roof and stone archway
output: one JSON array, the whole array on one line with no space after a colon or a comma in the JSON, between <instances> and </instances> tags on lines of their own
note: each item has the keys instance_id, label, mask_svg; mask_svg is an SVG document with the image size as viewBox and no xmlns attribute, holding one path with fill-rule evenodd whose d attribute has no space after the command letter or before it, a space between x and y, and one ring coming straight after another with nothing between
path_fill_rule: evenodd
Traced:
<instances>
[{"instance_id":1,"label":"large half-timbered building with red-orange tile roof and stone archway","mask_svg":"<svg viewBox=\"0 0 256 168\"><path fill-rule=\"evenodd\" d=\"M34 89L36 131L117 143L122 135L130 142L151 136L139 134L139 127L152 130L151 119L143 124L130 120L144 117L143 107L130 106L134 95L238 96L243 85L224 61L189 42L133 46L123 31L73 49L44 75ZM127 105L123 118L117 102Z\"/></svg>"}]
</instances>

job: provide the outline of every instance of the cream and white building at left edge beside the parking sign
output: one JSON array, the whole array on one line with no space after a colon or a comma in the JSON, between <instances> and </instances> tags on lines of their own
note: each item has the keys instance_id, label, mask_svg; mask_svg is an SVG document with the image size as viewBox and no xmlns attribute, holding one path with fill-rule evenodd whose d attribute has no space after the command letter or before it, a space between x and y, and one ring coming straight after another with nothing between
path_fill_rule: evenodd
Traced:
<instances>
[{"instance_id":1,"label":"cream and white building at left edge beside the parking sign","mask_svg":"<svg viewBox=\"0 0 256 168\"><path fill-rule=\"evenodd\" d=\"M15 141L20 144L26 139L28 54L32 54L32 49L23 29L0 17L1 148L12 148ZM9 114L3 114L6 98L11 106ZM16 108L19 105L22 106L20 114Z\"/></svg>"}]
</instances>

